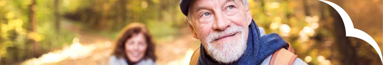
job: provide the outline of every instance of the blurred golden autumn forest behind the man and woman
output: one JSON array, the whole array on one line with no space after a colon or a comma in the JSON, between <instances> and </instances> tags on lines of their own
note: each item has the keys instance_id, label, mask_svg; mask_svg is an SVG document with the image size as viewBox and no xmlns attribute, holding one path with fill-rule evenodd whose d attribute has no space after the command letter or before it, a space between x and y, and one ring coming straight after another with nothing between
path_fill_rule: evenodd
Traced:
<instances>
[{"instance_id":1,"label":"blurred golden autumn forest behind the man and woman","mask_svg":"<svg viewBox=\"0 0 383 65\"><path fill-rule=\"evenodd\" d=\"M328 0L382 47L382 0ZM266 33L278 33L309 65L382 65L367 42L346 37L341 17L318 0L249 0ZM0 65L106 65L125 25L141 22L159 65L188 65L200 41L179 0L0 0ZM380 48L382 50L382 48Z\"/></svg>"}]
</instances>

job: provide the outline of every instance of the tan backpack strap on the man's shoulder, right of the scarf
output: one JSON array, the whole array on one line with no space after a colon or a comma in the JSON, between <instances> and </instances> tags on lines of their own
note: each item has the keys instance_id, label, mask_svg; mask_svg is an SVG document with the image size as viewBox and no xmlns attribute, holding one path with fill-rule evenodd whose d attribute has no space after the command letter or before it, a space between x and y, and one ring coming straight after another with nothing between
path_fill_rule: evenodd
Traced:
<instances>
[{"instance_id":1,"label":"tan backpack strap on the man's shoulder, right of the scarf","mask_svg":"<svg viewBox=\"0 0 383 65\"><path fill-rule=\"evenodd\" d=\"M294 54L294 49L288 43L288 49L282 48L275 51L271 57L269 65L293 65L298 55Z\"/></svg>"}]
</instances>

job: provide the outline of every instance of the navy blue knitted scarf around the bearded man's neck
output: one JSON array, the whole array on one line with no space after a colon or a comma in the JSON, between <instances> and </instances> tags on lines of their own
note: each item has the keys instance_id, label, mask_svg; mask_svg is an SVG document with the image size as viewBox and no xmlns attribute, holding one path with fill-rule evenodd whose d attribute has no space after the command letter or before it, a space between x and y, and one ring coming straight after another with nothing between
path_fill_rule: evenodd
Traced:
<instances>
[{"instance_id":1,"label":"navy blue knitted scarf around the bearded man's neck","mask_svg":"<svg viewBox=\"0 0 383 65\"><path fill-rule=\"evenodd\" d=\"M284 48L287 43L277 33L271 33L268 35L260 36L260 32L257 24L252 20L249 25L249 35L247 38L246 51L235 62L230 65L260 65L264 59L275 51ZM205 48L201 44L200 57L198 59L198 65L223 65L214 61L205 52Z\"/></svg>"}]
</instances>

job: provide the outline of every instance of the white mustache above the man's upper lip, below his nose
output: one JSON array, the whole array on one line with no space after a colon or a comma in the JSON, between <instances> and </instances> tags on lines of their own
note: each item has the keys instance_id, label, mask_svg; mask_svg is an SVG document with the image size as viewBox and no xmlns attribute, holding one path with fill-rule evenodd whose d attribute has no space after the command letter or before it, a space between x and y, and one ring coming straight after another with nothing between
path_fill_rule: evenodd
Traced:
<instances>
[{"instance_id":1,"label":"white mustache above the man's upper lip, below his nose","mask_svg":"<svg viewBox=\"0 0 383 65\"><path fill-rule=\"evenodd\" d=\"M216 40L219 40L219 39L226 37L226 36L236 35L239 32L244 33L244 28L241 26L232 26L232 27L229 27L223 31L210 33L208 35L208 37L206 38L206 40L208 42L216 41Z\"/></svg>"}]
</instances>

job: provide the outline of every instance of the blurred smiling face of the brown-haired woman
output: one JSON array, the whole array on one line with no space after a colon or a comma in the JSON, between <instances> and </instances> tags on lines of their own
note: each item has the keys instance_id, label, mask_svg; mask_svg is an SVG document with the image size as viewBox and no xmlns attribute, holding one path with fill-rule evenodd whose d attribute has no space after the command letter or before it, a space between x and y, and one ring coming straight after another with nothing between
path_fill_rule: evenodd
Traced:
<instances>
[{"instance_id":1,"label":"blurred smiling face of the brown-haired woman","mask_svg":"<svg viewBox=\"0 0 383 65\"><path fill-rule=\"evenodd\" d=\"M126 56L130 62L138 62L144 57L147 48L146 39L143 33L133 35L125 43Z\"/></svg>"}]
</instances>

